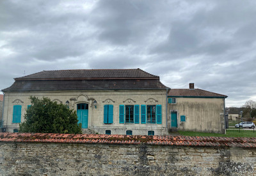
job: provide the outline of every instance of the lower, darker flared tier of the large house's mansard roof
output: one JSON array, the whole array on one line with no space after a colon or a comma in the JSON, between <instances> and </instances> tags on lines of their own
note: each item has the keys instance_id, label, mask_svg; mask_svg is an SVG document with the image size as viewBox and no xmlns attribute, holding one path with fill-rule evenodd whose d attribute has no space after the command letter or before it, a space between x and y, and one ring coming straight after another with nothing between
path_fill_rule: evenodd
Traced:
<instances>
[{"instance_id":1,"label":"lower, darker flared tier of the large house's mansard roof","mask_svg":"<svg viewBox=\"0 0 256 176\"><path fill-rule=\"evenodd\" d=\"M6 91L166 89L159 80L16 80Z\"/></svg>"}]
</instances>

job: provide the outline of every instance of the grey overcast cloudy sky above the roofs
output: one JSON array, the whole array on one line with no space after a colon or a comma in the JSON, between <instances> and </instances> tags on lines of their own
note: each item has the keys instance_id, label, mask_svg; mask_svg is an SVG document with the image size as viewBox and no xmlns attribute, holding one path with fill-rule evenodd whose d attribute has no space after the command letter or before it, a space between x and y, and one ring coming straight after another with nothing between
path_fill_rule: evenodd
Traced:
<instances>
[{"instance_id":1,"label":"grey overcast cloudy sky above the roofs","mask_svg":"<svg viewBox=\"0 0 256 176\"><path fill-rule=\"evenodd\" d=\"M255 0L6 0L0 11L0 90L42 70L141 68L227 106L256 101Z\"/></svg>"}]
</instances>

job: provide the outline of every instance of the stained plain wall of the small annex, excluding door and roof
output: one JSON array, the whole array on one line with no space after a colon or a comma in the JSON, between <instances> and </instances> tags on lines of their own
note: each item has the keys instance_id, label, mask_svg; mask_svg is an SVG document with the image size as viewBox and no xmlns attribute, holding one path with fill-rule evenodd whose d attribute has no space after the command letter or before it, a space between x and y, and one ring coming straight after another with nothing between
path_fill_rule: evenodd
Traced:
<instances>
[{"instance_id":1,"label":"stained plain wall of the small annex, excluding door and roof","mask_svg":"<svg viewBox=\"0 0 256 176\"><path fill-rule=\"evenodd\" d=\"M177 128L183 131L225 133L225 98L175 98L168 103L168 126L172 129L172 112L177 113ZM185 121L181 121L181 116Z\"/></svg>"}]
</instances>

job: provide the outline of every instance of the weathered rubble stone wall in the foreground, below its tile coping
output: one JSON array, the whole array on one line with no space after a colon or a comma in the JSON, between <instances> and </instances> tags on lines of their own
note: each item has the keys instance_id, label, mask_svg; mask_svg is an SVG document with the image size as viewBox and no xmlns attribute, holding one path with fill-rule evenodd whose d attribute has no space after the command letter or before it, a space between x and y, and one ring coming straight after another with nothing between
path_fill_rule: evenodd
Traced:
<instances>
[{"instance_id":1,"label":"weathered rubble stone wall in the foreground, below its tile coping","mask_svg":"<svg viewBox=\"0 0 256 176\"><path fill-rule=\"evenodd\" d=\"M253 175L255 148L0 142L0 175Z\"/></svg>"}]
</instances>

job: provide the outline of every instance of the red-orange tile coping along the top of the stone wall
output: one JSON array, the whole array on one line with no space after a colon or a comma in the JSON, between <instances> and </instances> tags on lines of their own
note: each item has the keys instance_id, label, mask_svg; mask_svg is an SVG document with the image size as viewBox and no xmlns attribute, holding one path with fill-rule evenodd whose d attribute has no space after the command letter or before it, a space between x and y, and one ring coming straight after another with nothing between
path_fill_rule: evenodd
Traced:
<instances>
[{"instance_id":1,"label":"red-orange tile coping along the top of the stone wall","mask_svg":"<svg viewBox=\"0 0 256 176\"><path fill-rule=\"evenodd\" d=\"M148 145L179 145L201 147L256 148L256 138L225 138L202 136L129 136L93 134L0 133L0 142L115 143Z\"/></svg>"}]
</instances>

